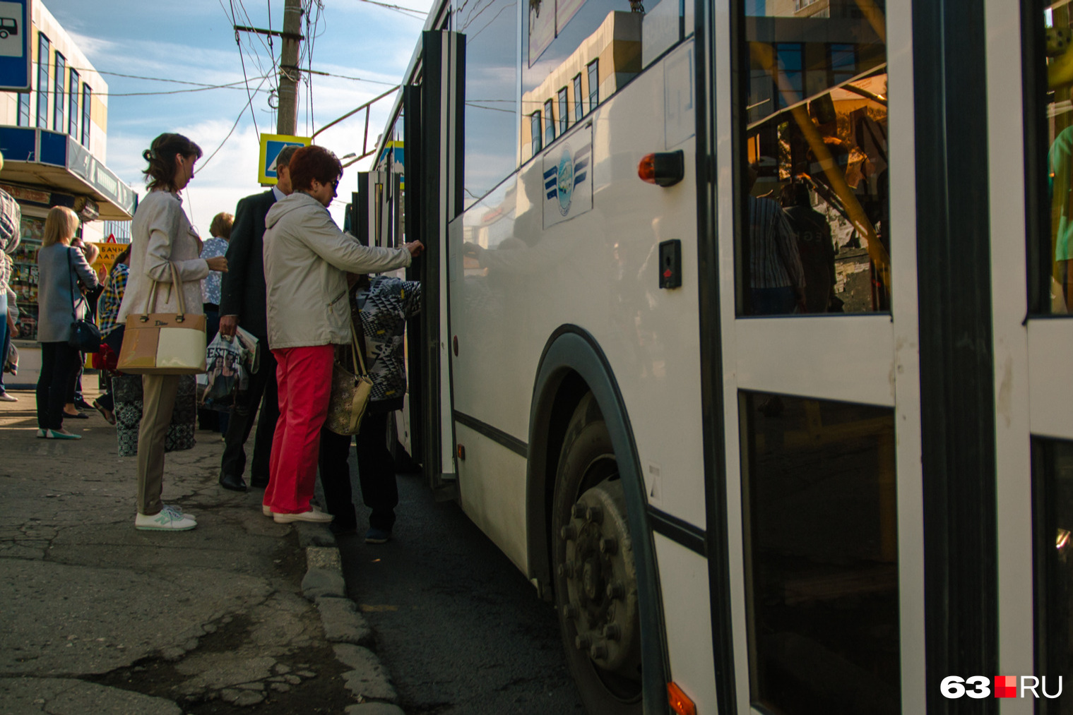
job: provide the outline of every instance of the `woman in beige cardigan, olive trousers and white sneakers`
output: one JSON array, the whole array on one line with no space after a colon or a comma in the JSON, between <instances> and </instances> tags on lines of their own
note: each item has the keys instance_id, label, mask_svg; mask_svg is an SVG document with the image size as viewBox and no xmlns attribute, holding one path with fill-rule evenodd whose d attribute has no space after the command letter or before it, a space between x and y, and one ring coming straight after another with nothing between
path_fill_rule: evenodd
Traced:
<instances>
[{"instance_id":1,"label":"woman in beige cardigan, olive trousers and white sneakers","mask_svg":"<svg viewBox=\"0 0 1073 715\"><path fill-rule=\"evenodd\" d=\"M145 310L174 313L179 301L172 285L172 265L179 275L186 311L202 312L201 281L210 270L225 272L223 256L200 258L201 238L182 210L182 191L194 176L201 147L181 134L161 134L142 157L148 195L138 204L131 223L130 277L119 307L118 322ZM151 296L153 281L156 296ZM172 420L178 375L143 375L142 426L137 442L137 517L134 527L146 531L187 531L197 525L191 515L160 501L164 476L164 435Z\"/></svg>"}]
</instances>

